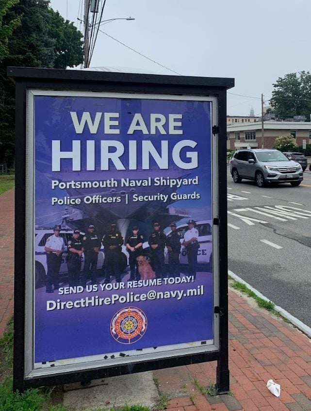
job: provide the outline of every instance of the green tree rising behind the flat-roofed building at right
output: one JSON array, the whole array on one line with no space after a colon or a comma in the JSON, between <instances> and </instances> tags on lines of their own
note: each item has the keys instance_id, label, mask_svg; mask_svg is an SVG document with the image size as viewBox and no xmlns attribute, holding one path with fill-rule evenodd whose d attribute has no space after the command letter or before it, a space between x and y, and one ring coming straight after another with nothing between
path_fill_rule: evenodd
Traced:
<instances>
[{"instance_id":1,"label":"green tree rising behind the flat-roofed building at right","mask_svg":"<svg viewBox=\"0 0 311 411\"><path fill-rule=\"evenodd\" d=\"M311 74L309 71L289 73L273 84L270 104L277 118L311 114Z\"/></svg>"}]
</instances>

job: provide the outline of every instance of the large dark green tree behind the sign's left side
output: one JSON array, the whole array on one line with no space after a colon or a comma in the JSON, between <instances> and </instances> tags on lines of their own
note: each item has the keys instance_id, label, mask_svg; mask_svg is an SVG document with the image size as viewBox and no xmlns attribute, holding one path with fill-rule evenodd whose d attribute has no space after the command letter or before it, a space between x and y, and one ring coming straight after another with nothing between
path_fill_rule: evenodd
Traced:
<instances>
[{"instance_id":1,"label":"large dark green tree behind the sign's left side","mask_svg":"<svg viewBox=\"0 0 311 411\"><path fill-rule=\"evenodd\" d=\"M12 1L12 0L0 0ZM82 33L49 7L49 0L13 0L3 24L20 19L0 62L0 163L14 163L15 86L7 66L66 68L83 62Z\"/></svg>"}]
</instances>

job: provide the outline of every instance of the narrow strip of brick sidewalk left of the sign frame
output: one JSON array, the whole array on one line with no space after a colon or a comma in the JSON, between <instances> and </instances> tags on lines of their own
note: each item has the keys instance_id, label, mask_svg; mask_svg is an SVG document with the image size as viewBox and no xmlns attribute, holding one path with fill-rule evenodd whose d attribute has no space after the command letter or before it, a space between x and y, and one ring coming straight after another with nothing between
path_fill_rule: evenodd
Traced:
<instances>
[{"instance_id":1,"label":"narrow strip of brick sidewalk left of the sign frame","mask_svg":"<svg viewBox=\"0 0 311 411\"><path fill-rule=\"evenodd\" d=\"M0 337L13 315L14 294L14 189L0 195Z\"/></svg>"}]
</instances>

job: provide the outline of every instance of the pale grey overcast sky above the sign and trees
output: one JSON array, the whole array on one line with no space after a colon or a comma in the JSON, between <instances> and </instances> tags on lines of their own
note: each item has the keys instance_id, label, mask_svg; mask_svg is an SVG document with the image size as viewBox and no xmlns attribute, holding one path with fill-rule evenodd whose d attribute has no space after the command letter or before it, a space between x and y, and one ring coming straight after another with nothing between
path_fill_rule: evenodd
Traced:
<instances>
[{"instance_id":1,"label":"pale grey overcast sky above the sign and trees","mask_svg":"<svg viewBox=\"0 0 311 411\"><path fill-rule=\"evenodd\" d=\"M81 31L82 3L50 0ZM311 67L311 0L106 0L103 19L128 16L101 30L179 74L234 78L228 115L260 115L278 77ZM174 74L103 33L90 66Z\"/></svg>"}]
</instances>

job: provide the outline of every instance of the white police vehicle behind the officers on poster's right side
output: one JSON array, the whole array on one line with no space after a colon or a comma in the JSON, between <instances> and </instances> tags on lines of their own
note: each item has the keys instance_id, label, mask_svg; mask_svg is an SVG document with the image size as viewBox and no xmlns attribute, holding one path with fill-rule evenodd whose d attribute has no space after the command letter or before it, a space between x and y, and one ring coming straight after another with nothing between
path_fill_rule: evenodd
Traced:
<instances>
[{"instance_id":1,"label":"white police vehicle behind the officers on poster's right side","mask_svg":"<svg viewBox=\"0 0 311 411\"><path fill-rule=\"evenodd\" d=\"M212 234L212 220L202 220L197 221L195 225L196 230L198 230L198 243L199 248L197 250L197 263L198 265L204 264L206 265L209 271L212 270L213 267L213 234ZM183 242L183 236L185 232L188 230L188 224L184 222L183 224L177 225L177 231L180 233L180 244ZM166 235L172 232L170 227L167 227L164 230ZM168 263L168 253L167 248L165 247L164 250L165 254L165 263ZM187 257L187 249L186 247L181 246L180 249L180 264L188 264L188 257Z\"/></svg>"}]
</instances>

